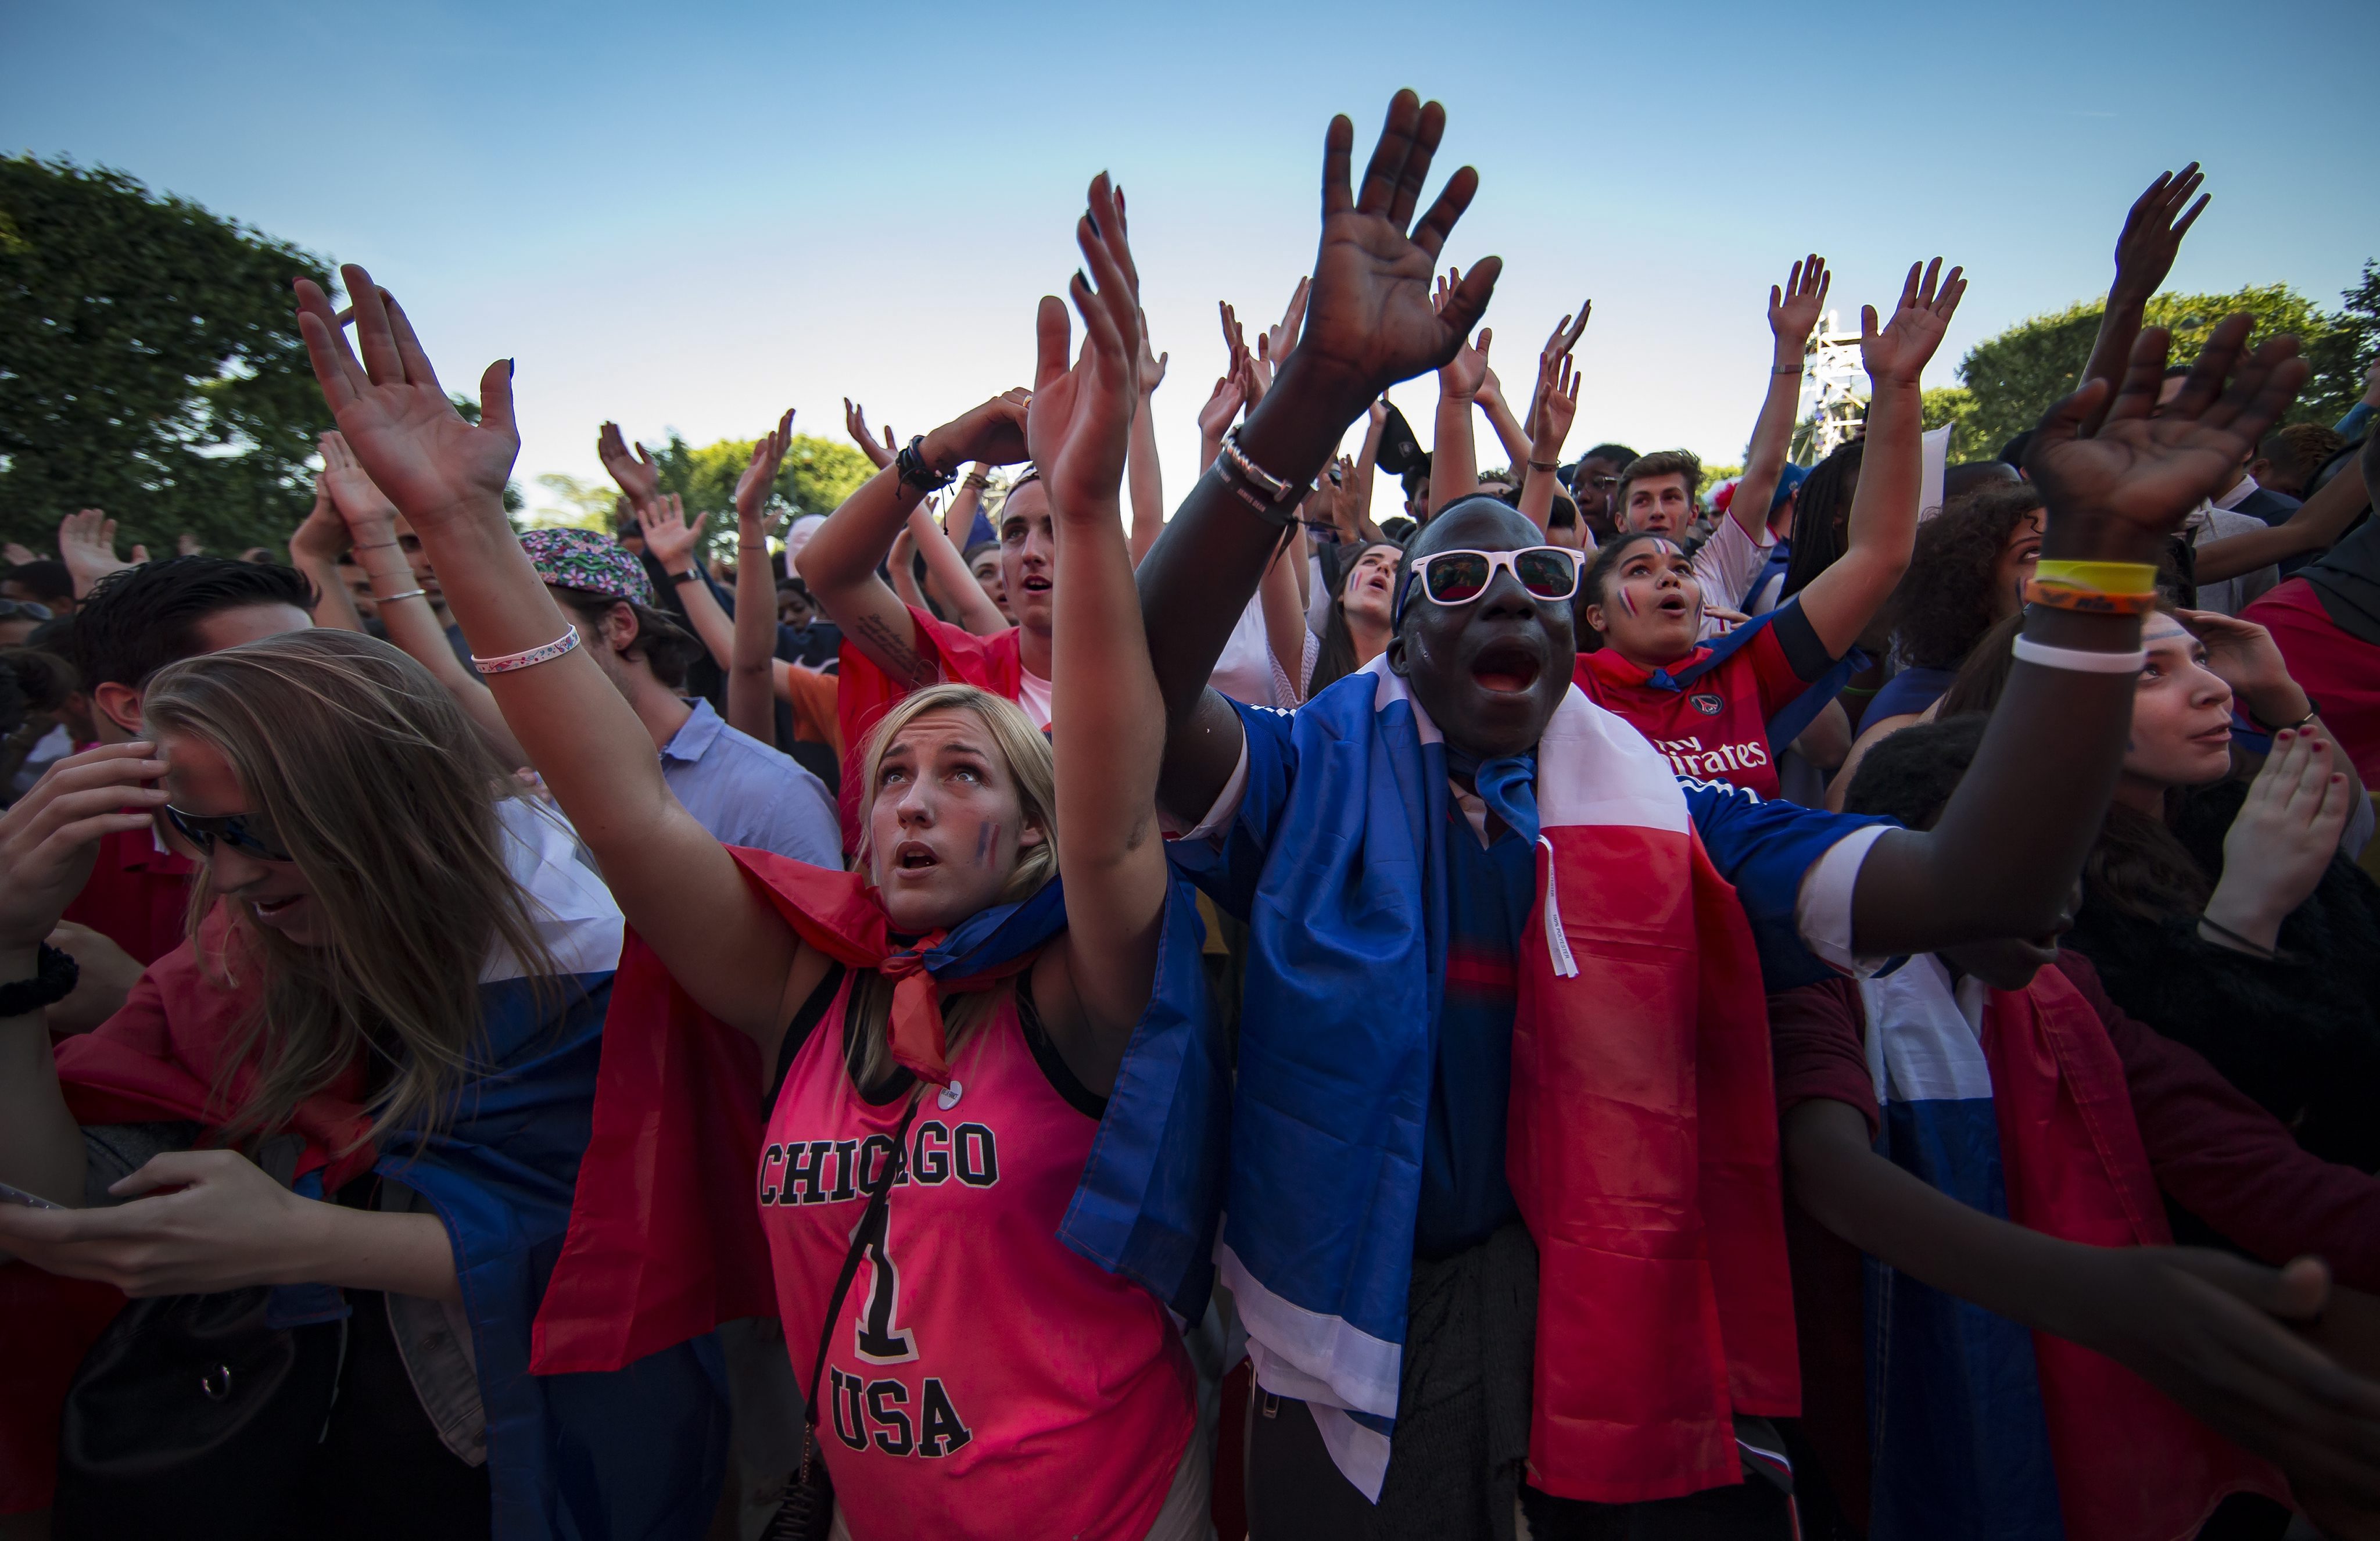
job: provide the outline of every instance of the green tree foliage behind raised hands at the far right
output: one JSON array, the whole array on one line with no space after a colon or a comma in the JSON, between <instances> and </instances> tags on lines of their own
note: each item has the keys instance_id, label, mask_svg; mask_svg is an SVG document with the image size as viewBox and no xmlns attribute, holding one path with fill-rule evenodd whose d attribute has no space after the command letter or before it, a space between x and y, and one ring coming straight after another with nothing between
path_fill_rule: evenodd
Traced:
<instances>
[{"instance_id":1,"label":"green tree foliage behind raised hands at the far right","mask_svg":"<svg viewBox=\"0 0 2380 1541\"><path fill-rule=\"evenodd\" d=\"M2380 343L2380 272L2366 262L2363 283L2342 298L2347 307L2328 314L2287 283L2254 283L2232 295L2156 295L2149 300L2147 324L2173 331L2178 364L2194 360L2206 333L2235 310L2256 317L2259 338L2297 333L2313 379L2297 395L2290 422L2328 424L2363 395L2363 367ZM1959 424L1952 460L1994 453L2073 391L2090 362L2104 310L2104 300L2082 300L2018 322L1959 360L1968 403L1956 403L1947 391L1925 393L1925 426Z\"/></svg>"}]
</instances>

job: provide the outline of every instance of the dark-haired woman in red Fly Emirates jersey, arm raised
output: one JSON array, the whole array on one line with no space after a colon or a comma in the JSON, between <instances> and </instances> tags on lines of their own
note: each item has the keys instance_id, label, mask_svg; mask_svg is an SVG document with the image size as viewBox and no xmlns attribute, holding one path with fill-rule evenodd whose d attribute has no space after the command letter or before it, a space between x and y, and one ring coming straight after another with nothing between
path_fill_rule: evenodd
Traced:
<instances>
[{"instance_id":1,"label":"dark-haired woman in red Fly Emirates jersey, arm raised","mask_svg":"<svg viewBox=\"0 0 2380 1541\"><path fill-rule=\"evenodd\" d=\"M1909 567L1921 474L1918 376L1942 343L1961 293L1966 281L1959 269L1942 274L1935 260L1930 269L1909 269L1890 326L1878 329L1875 310L1866 310L1861 350L1875 381L1875 467L1856 481L1849 545L1828 536L1828 562L1804 591L1756 622L1702 643L1706 595L1692 560L1666 536L1621 536L1587 567L1578 617L1597 645L1578 653L1573 679L1587 700L1652 738L1680 776L1733 781L1761 798L1780 796L1775 748L1792 743L1840 691L1844 655ZM1802 517L1833 507L1825 488L1821 503L1809 503L1809 488L1821 483L1828 464L1802 483ZM1802 553L1797 538L1795 562ZM1480 584L1490 576L1483 574Z\"/></svg>"}]
</instances>

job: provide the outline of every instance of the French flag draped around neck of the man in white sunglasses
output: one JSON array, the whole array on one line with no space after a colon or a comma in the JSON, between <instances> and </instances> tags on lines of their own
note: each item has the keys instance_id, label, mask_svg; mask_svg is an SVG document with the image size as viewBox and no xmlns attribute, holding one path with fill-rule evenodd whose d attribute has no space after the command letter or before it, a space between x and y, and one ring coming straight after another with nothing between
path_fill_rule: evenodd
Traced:
<instances>
[{"instance_id":1,"label":"French flag draped around neck of the man in white sunglasses","mask_svg":"<svg viewBox=\"0 0 2380 1541\"><path fill-rule=\"evenodd\" d=\"M1259 1384L1314 1403L1378 1498L1447 957L1447 750L1380 660L1290 719L1295 755L1271 748L1278 717L1242 719L1247 793L1202 879L1250 917L1219 1262ZM1540 1253L1530 1481L1599 1503L1726 1486L1733 1415L1799 1408L1752 929L1668 762L1576 686L1535 796L1507 1150Z\"/></svg>"}]
</instances>

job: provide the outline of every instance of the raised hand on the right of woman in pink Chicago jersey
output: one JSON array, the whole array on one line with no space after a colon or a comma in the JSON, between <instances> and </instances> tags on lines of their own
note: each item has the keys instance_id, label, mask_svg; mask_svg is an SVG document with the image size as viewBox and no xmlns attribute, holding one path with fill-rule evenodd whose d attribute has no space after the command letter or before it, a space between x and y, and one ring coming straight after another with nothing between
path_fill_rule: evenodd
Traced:
<instances>
[{"instance_id":1,"label":"raised hand on the right of woman in pink Chicago jersey","mask_svg":"<svg viewBox=\"0 0 2380 1541\"><path fill-rule=\"evenodd\" d=\"M1073 307L1083 312L1083 350L1069 367L1066 307L1057 295L1045 295L1035 317L1040 362L1026 412L1026 443L1061 519L1092 512L1114 517L1121 507L1133 410L1140 403L1142 341L1123 212L1107 171L1090 183L1090 210L1076 224L1073 241L1090 267L1090 279L1076 272L1069 283Z\"/></svg>"}]
</instances>

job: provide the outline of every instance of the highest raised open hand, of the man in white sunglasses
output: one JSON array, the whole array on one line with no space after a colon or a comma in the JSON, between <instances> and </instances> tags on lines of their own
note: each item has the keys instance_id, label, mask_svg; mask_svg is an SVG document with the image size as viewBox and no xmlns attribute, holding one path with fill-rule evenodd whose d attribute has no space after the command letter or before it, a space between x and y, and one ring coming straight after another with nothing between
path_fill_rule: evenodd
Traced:
<instances>
[{"instance_id":1,"label":"highest raised open hand, of the man in white sunglasses","mask_svg":"<svg viewBox=\"0 0 2380 1541\"><path fill-rule=\"evenodd\" d=\"M1430 302L1438 252L1478 193L1478 171L1464 167L1414 222L1445 131L1445 107L1399 91L1361 188L1349 179L1354 124L1333 117L1323 136L1323 238L1297 353L1347 417L1397 381L1445 367L1488 312L1504 267L1483 257L1447 305Z\"/></svg>"}]
</instances>

